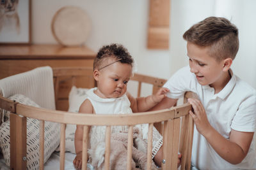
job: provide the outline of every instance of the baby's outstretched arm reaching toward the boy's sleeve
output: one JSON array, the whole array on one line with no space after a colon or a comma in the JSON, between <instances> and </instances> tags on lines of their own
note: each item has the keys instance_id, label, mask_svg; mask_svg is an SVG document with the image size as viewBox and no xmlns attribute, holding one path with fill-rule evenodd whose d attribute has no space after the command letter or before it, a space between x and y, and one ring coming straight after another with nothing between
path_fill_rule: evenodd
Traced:
<instances>
[{"instance_id":1,"label":"baby's outstretched arm reaching toward the boy's sleeve","mask_svg":"<svg viewBox=\"0 0 256 170\"><path fill-rule=\"evenodd\" d=\"M147 97L138 97L136 99L127 93L127 96L131 101L132 112L136 113L147 111L150 108L156 106L157 103L161 102L164 97L166 97L166 92L169 92L169 89L162 87L156 92L156 94Z\"/></svg>"}]
</instances>

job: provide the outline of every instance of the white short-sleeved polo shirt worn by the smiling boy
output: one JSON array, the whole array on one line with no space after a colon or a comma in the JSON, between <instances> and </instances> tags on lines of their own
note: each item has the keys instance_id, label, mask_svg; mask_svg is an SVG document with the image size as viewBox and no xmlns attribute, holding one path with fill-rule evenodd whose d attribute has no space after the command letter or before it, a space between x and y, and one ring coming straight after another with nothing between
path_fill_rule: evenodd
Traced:
<instances>
[{"instance_id":1,"label":"white short-sleeved polo shirt worn by the smiling boy","mask_svg":"<svg viewBox=\"0 0 256 170\"><path fill-rule=\"evenodd\" d=\"M242 132L256 131L256 90L233 75L227 85L214 94L214 88L200 85L189 66L179 69L164 87L170 89L168 97L177 99L186 91L195 92L202 102L209 123L224 138L228 139L231 129ZM192 163L198 169L256 169L255 139L249 152L240 164L230 164L222 159L198 133L193 137Z\"/></svg>"}]
</instances>

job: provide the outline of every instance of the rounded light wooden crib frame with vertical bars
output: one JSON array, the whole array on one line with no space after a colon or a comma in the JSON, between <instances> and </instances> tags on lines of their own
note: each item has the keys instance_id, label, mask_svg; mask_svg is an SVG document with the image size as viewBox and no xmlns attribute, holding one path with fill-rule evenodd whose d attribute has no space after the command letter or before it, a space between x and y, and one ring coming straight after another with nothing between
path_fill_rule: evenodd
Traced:
<instances>
[{"instance_id":1,"label":"rounded light wooden crib frame with vertical bars","mask_svg":"<svg viewBox=\"0 0 256 170\"><path fill-rule=\"evenodd\" d=\"M40 169L44 169L44 122L58 122L61 124L60 142L60 169L65 167L65 128L67 124L84 125L83 132L83 160L87 160L88 127L92 125L106 125L106 152L105 169L109 169L111 126L127 125L128 132L128 153L127 169L131 169L132 159L132 127L136 124L148 124L148 141L152 141L152 129L156 124L157 129L163 134L163 162L162 169L177 169L177 153L182 153L181 169L190 169L191 149L193 141L193 119L189 115L191 104L185 103L165 110L149 111L145 113L127 115L92 115L68 113L67 108L63 108L63 103L67 103L68 92L72 85L77 85L81 78L85 77L83 87L94 87L95 81L92 78L92 68L54 68L54 90L56 96L57 110L47 110L26 106L10 101L0 96L0 107L11 111L10 113L10 169L26 169L26 118L36 118L40 120ZM153 85L153 92L161 87L166 80L134 74L132 78L138 81L138 96L141 92L141 83ZM62 88L60 88L62 87ZM65 87L65 88L63 88ZM65 89L65 90L63 90ZM187 92L184 101L195 94ZM22 117L20 117L22 116ZM104 120L104 121L102 121ZM19 141L19 142L17 142ZM147 146L147 169L151 169L152 162L152 142ZM83 161L82 169L86 169L86 161Z\"/></svg>"}]
</instances>

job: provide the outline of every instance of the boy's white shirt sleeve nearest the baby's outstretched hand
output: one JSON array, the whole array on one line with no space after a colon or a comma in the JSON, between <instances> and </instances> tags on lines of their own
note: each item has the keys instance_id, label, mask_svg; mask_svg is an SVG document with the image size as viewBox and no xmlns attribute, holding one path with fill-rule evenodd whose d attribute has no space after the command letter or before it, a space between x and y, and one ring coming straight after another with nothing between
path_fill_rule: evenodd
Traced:
<instances>
[{"instance_id":1,"label":"boy's white shirt sleeve nearest the baby's outstretched hand","mask_svg":"<svg viewBox=\"0 0 256 170\"><path fill-rule=\"evenodd\" d=\"M179 99L186 91L191 91L195 87L195 78L189 71L189 66L182 67L163 85L170 90L167 97Z\"/></svg>"}]
</instances>

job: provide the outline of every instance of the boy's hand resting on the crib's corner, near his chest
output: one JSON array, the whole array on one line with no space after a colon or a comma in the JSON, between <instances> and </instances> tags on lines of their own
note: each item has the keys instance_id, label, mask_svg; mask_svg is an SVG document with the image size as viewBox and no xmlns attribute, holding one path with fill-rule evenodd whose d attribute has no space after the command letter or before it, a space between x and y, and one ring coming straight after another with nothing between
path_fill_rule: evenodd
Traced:
<instances>
[{"instance_id":1,"label":"boy's hand resting on the crib's corner, near his chest","mask_svg":"<svg viewBox=\"0 0 256 170\"><path fill-rule=\"evenodd\" d=\"M189 114L193 118L196 129L200 134L204 136L211 129L211 125L208 121L207 115L204 110L203 104L198 99L188 99L189 104L192 105L193 111L189 111Z\"/></svg>"}]
</instances>

